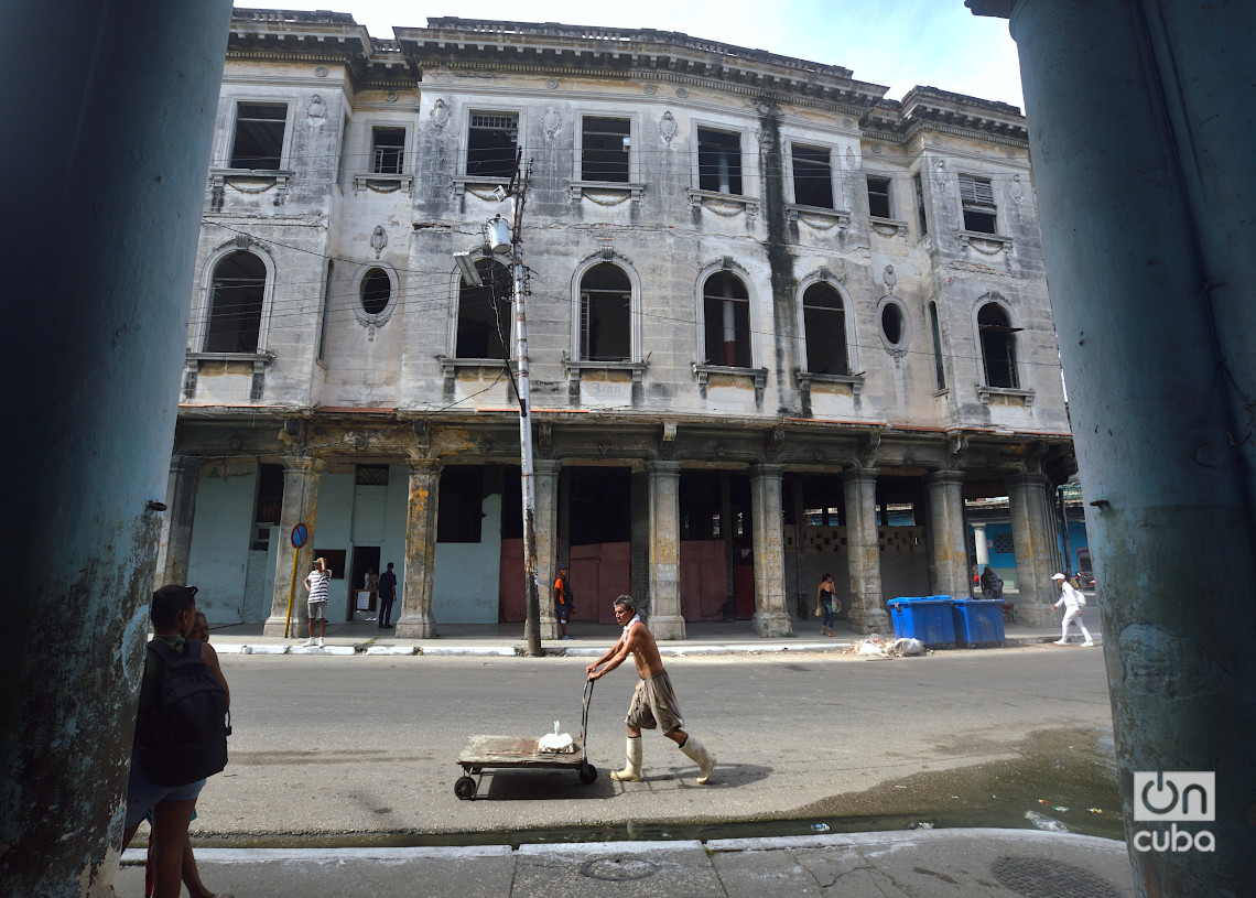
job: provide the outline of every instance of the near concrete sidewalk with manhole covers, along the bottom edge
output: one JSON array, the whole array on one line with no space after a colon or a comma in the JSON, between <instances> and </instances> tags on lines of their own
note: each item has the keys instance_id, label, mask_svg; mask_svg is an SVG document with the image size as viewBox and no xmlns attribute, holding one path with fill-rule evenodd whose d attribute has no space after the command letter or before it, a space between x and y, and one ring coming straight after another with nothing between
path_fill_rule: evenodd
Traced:
<instances>
[{"instance_id":1,"label":"near concrete sidewalk with manhole covers, along the bottom edge","mask_svg":"<svg viewBox=\"0 0 1256 898\"><path fill-rule=\"evenodd\" d=\"M476 848L197 849L205 884L268 898L1025 898L1134 895L1123 841L950 829ZM116 884L143 894L143 850Z\"/></svg>"}]
</instances>

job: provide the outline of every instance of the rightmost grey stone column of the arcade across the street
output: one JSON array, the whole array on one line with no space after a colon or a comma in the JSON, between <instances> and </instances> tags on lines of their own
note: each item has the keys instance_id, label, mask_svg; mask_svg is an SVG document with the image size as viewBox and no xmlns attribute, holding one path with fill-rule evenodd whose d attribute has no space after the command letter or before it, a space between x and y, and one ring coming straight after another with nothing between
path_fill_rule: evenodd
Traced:
<instances>
[{"instance_id":1,"label":"rightmost grey stone column of the arcade across the street","mask_svg":"<svg viewBox=\"0 0 1256 898\"><path fill-rule=\"evenodd\" d=\"M1058 615L1051 583L1055 556L1055 515L1048 497L1045 475L1021 473L1007 479L1007 504L1012 519L1012 546L1016 551L1016 585L1020 600L1016 622L1026 627L1054 627Z\"/></svg>"}]
</instances>

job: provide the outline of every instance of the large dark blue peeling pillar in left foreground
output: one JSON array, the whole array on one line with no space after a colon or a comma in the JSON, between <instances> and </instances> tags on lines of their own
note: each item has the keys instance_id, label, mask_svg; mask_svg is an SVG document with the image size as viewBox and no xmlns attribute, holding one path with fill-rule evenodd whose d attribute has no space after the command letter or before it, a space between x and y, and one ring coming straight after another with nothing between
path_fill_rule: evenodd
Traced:
<instances>
[{"instance_id":1,"label":"large dark blue peeling pillar in left foreground","mask_svg":"<svg viewBox=\"0 0 1256 898\"><path fill-rule=\"evenodd\" d=\"M230 15L3 15L5 894L113 894Z\"/></svg>"}]
</instances>

